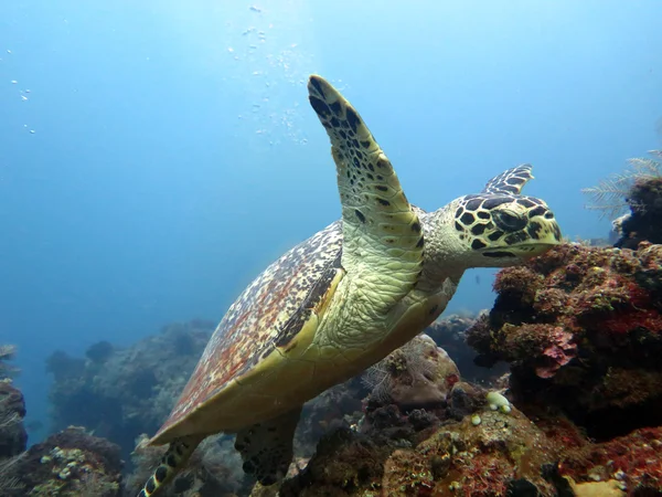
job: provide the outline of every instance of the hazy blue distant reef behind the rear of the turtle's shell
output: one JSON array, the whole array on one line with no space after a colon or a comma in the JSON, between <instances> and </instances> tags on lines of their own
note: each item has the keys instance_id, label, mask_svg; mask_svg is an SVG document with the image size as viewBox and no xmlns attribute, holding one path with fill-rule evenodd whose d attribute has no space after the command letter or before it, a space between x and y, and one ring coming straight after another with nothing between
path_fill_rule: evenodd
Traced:
<instances>
[{"instance_id":1,"label":"hazy blue distant reef behind the rear of the turtle's shell","mask_svg":"<svg viewBox=\"0 0 662 497\"><path fill-rule=\"evenodd\" d=\"M102 341L84 359L54 352L46 361L55 380L52 431L85 426L120 445L128 461L134 441L156 433L170 413L213 329L212 322L193 320L167 326L128 349Z\"/></svg>"}]
</instances>

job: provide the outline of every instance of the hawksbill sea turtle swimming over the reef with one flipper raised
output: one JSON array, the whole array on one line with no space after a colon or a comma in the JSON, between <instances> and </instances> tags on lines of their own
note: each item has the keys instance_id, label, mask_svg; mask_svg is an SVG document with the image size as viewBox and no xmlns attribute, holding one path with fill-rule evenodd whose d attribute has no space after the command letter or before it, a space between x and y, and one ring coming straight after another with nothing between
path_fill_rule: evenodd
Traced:
<instances>
[{"instance_id":1,"label":"hawksbill sea turtle swimming over the reef with one flipper raised","mask_svg":"<svg viewBox=\"0 0 662 497\"><path fill-rule=\"evenodd\" d=\"M229 307L163 426L151 496L209 435L236 433L244 470L286 474L301 405L431 324L470 267L522 263L559 243L554 214L520 190L531 166L425 212L354 107L312 75L309 99L331 138L342 220L291 248Z\"/></svg>"}]
</instances>

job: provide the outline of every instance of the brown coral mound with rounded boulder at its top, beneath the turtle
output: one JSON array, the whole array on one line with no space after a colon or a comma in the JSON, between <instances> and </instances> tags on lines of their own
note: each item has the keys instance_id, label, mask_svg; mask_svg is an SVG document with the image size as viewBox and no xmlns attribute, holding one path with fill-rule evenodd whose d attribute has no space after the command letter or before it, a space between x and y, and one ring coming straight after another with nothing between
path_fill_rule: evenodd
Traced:
<instances>
[{"instance_id":1,"label":"brown coral mound with rounded boulder at its top, beneath the turtle","mask_svg":"<svg viewBox=\"0 0 662 497\"><path fill-rule=\"evenodd\" d=\"M361 421L325 435L280 497L558 494L546 478L559 454L553 441L503 395L461 381L430 337L394 351L364 382Z\"/></svg>"}]
</instances>

